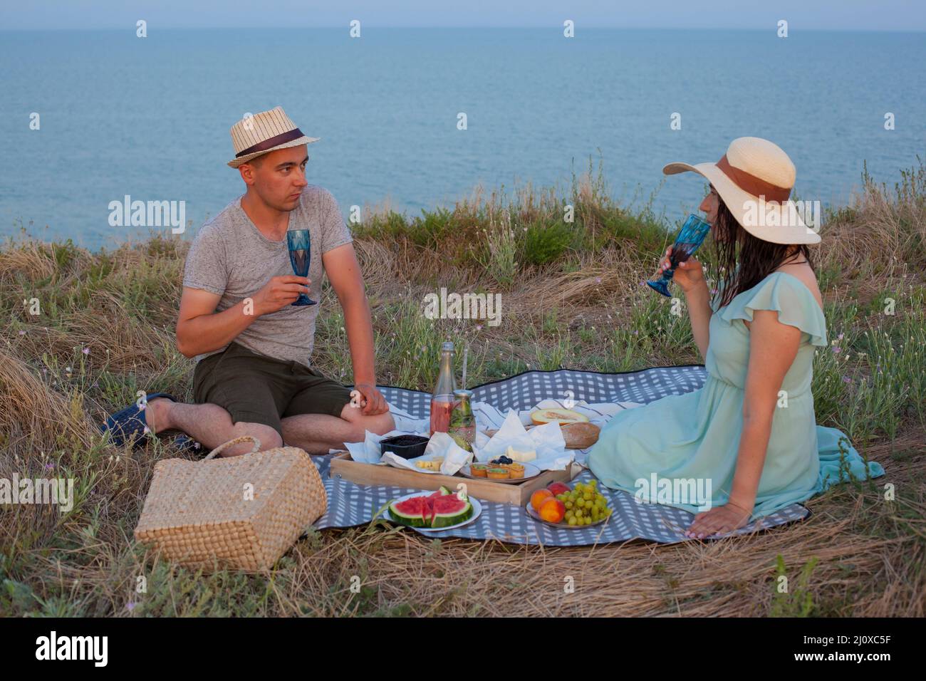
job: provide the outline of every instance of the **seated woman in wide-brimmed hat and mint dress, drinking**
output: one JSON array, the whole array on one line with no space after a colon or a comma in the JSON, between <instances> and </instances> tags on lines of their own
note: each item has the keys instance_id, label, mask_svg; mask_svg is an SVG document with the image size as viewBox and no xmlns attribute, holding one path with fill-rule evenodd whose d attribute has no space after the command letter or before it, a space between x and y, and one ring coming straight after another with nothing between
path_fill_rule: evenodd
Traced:
<instances>
[{"instance_id":1,"label":"seated woman in wide-brimmed hat and mint dress, drinking","mask_svg":"<svg viewBox=\"0 0 926 681\"><path fill-rule=\"evenodd\" d=\"M699 208L721 274L714 296L697 259L674 276L707 379L700 390L615 415L588 465L608 487L695 513L686 536L718 536L814 496L846 468L861 478L883 469L866 471L845 435L816 423L813 359L828 346L808 246L820 234L788 200L791 159L768 140L741 137L717 163L670 163L663 172L686 170L710 183Z\"/></svg>"}]
</instances>

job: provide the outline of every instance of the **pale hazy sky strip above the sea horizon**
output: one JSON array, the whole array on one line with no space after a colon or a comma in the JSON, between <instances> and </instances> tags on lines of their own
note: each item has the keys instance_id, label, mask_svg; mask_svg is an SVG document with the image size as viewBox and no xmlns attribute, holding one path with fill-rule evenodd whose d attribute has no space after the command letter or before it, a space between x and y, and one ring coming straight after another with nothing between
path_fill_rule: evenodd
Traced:
<instances>
[{"instance_id":1,"label":"pale hazy sky strip above the sea horizon","mask_svg":"<svg viewBox=\"0 0 926 681\"><path fill-rule=\"evenodd\" d=\"M0 0L2 30L347 26L926 31L924 0Z\"/></svg>"}]
</instances>

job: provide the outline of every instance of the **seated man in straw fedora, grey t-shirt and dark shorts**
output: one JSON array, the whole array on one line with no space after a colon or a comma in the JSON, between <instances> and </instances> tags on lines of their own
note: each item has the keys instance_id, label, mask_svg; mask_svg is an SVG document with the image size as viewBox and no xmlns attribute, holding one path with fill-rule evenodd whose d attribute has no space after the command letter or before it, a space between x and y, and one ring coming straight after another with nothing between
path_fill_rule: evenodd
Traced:
<instances>
[{"instance_id":1,"label":"seated man in straw fedora, grey t-shirt and dark shorts","mask_svg":"<svg viewBox=\"0 0 926 681\"><path fill-rule=\"evenodd\" d=\"M117 444L148 433L181 431L206 448L253 435L261 449L282 444L309 453L342 448L394 428L376 388L373 330L363 278L332 194L306 180L307 137L282 107L232 126L228 165L247 187L196 234L187 255L177 321L177 347L196 359L194 400L147 396L109 417L103 430ZM308 230L307 277L295 276L287 232ZM354 364L353 394L309 366L328 275L344 309ZM138 440L144 438L138 437ZM136 440L136 442L138 442ZM248 443L222 452L249 451Z\"/></svg>"}]
</instances>

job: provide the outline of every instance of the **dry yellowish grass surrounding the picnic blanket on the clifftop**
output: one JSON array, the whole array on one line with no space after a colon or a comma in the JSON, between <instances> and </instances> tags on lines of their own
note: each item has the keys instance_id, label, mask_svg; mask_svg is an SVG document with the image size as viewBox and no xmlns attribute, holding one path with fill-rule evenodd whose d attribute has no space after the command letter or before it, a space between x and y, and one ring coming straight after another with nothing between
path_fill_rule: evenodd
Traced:
<instances>
[{"instance_id":1,"label":"dry yellowish grass surrounding the picnic blanket on the clifftop","mask_svg":"<svg viewBox=\"0 0 926 681\"><path fill-rule=\"evenodd\" d=\"M921 171L919 177L911 176L911 186L921 188ZM476 192L449 217L432 215L427 227L404 219L390 226L386 211L357 229L381 382L429 389L433 367L422 366L420 347L433 349L444 333L470 343L477 382L528 364L619 371L697 361L684 324L640 290L668 238L663 227L646 215L629 216L606 196L588 178L562 200L532 188L509 204ZM492 254L480 250L482 229L502 220L506 206L515 231L547 229L565 200L576 207L572 241L547 262L529 263L519 251L517 278L499 281ZM907 309L914 322L878 309L885 292L906 299L919 292L915 299L922 300L922 284L911 274L926 267L924 215L921 192L892 195L868 183L852 207L831 216L819 268L831 328L838 323L861 338L866 328L910 334L923 326L922 309ZM526 238L518 234L516 246ZM544 238L532 243L543 246ZM186 248L154 237L94 254L33 241L0 250L0 305L9 320L0 346L0 477L55 471L79 487L67 515L40 506L0 508L0 614L767 615L798 613L801 589L812 596L813 614L926 614L921 405L919 412L904 408L890 437L880 430L878 410L893 410L895 402L889 395L883 403L859 401L856 384L821 394L820 405L832 405L833 424L857 423L853 435L870 442L860 449L882 462L887 477L812 499L807 521L767 533L553 549L432 541L373 523L313 532L269 574L194 574L158 561L135 546L131 530L156 460L177 453L161 441L113 448L101 442L95 423L133 401L138 389L189 397L192 363L172 334ZM439 285L503 291L504 323L422 325L414 301ZM41 303L39 317L22 305L32 296ZM342 323L337 306L325 306L315 360L349 382ZM891 351L899 353L901 339L892 339ZM907 356L911 368L898 380L913 385L926 366L921 355ZM854 356L833 367L820 358L816 371L839 383L845 372L870 375L873 364ZM895 485L894 501L885 500L885 483ZM819 563L802 582L812 559ZM789 594L775 589L779 560L793 585ZM144 594L136 591L139 576ZM359 593L350 588L355 576ZM564 588L570 583L571 592Z\"/></svg>"}]
</instances>

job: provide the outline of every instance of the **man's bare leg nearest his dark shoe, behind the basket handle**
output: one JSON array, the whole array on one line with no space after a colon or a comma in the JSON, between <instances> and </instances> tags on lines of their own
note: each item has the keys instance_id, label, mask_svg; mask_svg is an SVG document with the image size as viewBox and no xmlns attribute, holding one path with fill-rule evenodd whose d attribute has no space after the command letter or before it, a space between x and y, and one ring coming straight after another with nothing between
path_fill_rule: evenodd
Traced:
<instances>
[{"instance_id":1,"label":"man's bare leg nearest his dark shoe, behind the basket handle","mask_svg":"<svg viewBox=\"0 0 926 681\"><path fill-rule=\"evenodd\" d=\"M153 433L179 430L190 435L210 451L223 442L240 435L253 435L260 441L260 451L282 447L282 438L269 425L264 423L232 423L232 416L216 404L184 404L174 402L166 397L156 397L148 402L144 411L144 421ZM223 449L219 456L239 456L246 454L254 445L243 442Z\"/></svg>"}]
</instances>

